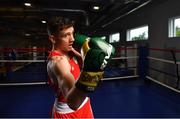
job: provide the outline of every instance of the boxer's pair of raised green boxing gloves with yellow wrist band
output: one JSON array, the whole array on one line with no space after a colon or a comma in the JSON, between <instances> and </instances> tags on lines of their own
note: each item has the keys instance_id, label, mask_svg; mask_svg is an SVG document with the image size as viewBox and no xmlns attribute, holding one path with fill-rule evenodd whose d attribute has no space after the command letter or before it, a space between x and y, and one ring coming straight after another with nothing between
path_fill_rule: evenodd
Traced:
<instances>
[{"instance_id":1,"label":"boxer's pair of raised green boxing gloves with yellow wrist band","mask_svg":"<svg viewBox=\"0 0 180 119\"><path fill-rule=\"evenodd\" d=\"M103 78L103 70L114 54L114 47L100 38L89 38L76 34L75 43L81 46L84 64L76 87L86 92L93 92Z\"/></svg>"}]
</instances>

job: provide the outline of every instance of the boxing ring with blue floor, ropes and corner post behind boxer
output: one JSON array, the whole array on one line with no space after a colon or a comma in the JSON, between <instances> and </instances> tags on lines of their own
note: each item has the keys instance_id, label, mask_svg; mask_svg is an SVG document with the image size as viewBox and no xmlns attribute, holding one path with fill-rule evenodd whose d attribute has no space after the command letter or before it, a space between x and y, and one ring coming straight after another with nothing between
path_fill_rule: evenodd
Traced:
<instances>
[{"instance_id":1,"label":"boxing ring with blue floor, ropes and corner post behind boxer","mask_svg":"<svg viewBox=\"0 0 180 119\"><path fill-rule=\"evenodd\" d=\"M15 50L15 57L10 49L0 50L0 117L48 118L54 94L46 72L47 50ZM178 53L118 47L102 83L89 94L95 118L180 117Z\"/></svg>"}]
</instances>

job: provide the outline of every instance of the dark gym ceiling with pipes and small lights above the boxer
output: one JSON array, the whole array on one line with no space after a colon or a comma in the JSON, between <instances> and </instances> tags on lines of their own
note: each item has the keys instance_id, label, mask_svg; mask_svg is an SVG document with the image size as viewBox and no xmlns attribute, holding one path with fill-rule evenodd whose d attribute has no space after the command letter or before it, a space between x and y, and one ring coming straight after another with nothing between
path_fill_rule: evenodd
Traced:
<instances>
[{"instance_id":1,"label":"dark gym ceiling with pipes and small lights above the boxer","mask_svg":"<svg viewBox=\"0 0 180 119\"><path fill-rule=\"evenodd\" d=\"M44 37L46 24L42 20L59 15L75 20L79 31L93 31L152 1L158 0L0 0L0 34ZM94 5L99 10L92 9Z\"/></svg>"}]
</instances>

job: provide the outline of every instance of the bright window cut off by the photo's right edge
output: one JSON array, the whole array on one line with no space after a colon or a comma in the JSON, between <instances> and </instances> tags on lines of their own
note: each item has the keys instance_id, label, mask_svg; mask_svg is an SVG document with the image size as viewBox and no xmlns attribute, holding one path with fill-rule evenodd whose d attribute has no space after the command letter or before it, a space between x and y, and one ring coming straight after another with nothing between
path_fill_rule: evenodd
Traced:
<instances>
[{"instance_id":1,"label":"bright window cut off by the photo's right edge","mask_svg":"<svg viewBox=\"0 0 180 119\"><path fill-rule=\"evenodd\" d=\"M169 19L169 37L180 37L180 17Z\"/></svg>"}]
</instances>

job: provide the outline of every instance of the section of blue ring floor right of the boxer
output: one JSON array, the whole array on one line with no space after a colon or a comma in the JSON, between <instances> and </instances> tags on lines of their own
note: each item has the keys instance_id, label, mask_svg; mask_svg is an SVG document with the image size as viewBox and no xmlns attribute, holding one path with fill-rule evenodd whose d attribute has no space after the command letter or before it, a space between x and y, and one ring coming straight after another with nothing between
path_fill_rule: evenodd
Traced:
<instances>
[{"instance_id":1,"label":"section of blue ring floor right of the boxer","mask_svg":"<svg viewBox=\"0 0 180 119\"><path fill-rule=\"evenodd\" d=\"M133 85L136 84L136 85ZM154 84L153 84L154 85ZM180 117L180 94L158 93L137 81L106 81L91 95L97 118L177 118ZM166 94L166 95L164 95ZM176 101L172 99L172 95Z\"/></svg>"}]
</instances>

